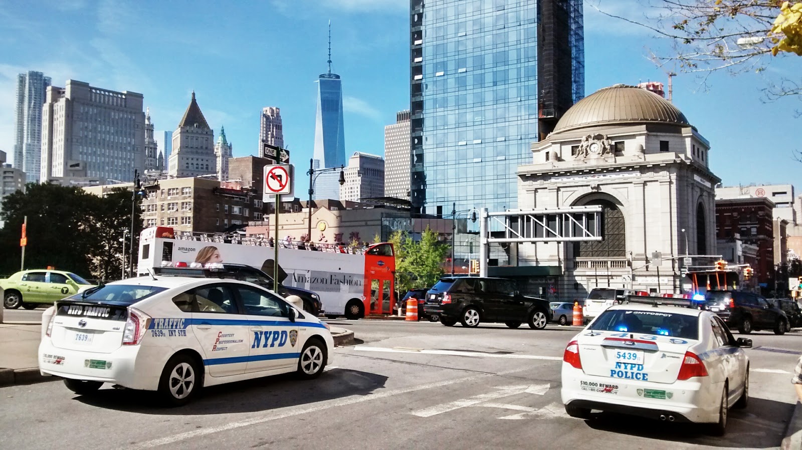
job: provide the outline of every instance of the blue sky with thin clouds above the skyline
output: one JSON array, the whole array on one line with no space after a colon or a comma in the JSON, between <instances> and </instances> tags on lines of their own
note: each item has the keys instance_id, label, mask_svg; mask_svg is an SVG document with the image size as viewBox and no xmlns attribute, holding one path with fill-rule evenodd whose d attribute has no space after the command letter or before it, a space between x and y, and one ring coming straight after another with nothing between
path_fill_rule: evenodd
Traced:
<instances>
[{"instance_id":1,"label":"blue sky with thin clouds above the skyline","mask_svg":"<svg viewBox=\"0 0 802 450\"><path fill-rule=\"evenodd\" d=\"M634 0L587 0L633 17ZM40 70L144 94L156 130L173 130L195 90L215 135L235 156L255 155L263 106L282 110L292 162L306 170L314 144L315 79L342 76L346 154L383 155L383 127L409 106L408 0L0 0L0 150L11 153L16 74ZM668 42L585 5L585 94L618 82L666 81L647 58ZM715 74L707 89L674 77L674 103L711 142L711 169L726 185L796 183L802 102L761 101L759 89L800 71L778 58L764 74ZM298 173L298 172L297 172ZM300 171L303 173L303 171ZM306 191L299 179L296 192Z\"/></svg>"}]
</instances>

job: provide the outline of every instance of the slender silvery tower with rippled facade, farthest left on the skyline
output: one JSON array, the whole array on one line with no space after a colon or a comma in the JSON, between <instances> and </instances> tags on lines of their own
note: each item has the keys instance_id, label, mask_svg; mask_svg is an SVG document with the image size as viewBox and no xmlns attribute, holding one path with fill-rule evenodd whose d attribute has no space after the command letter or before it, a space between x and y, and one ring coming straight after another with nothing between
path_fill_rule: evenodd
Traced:
<instances>
[{"instance_id":1,"label":"slender silvery tower with rippled facade, farthest left on the skyline","mask_svg":"<svg viewBox=\"0 0 802 450\"><path fill-rule=\"evenodd\" d=\"M14 167L26 173L28 183L38 183L42 161L42 105L51 78L42 72L17 75L17 108Z\"/></svg>"}]
</instances>

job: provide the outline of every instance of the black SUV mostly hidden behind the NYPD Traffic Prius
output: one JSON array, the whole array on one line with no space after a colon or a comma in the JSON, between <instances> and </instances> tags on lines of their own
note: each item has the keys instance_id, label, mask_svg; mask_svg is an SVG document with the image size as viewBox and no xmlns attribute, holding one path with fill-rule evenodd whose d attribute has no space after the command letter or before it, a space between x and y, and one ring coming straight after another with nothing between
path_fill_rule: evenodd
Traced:
<instances>
[{"instance_id":1,"label":"black SUV mostly hidden behind the NYPD Traffic Prius","mask_svg":"<svg viewBox=\"0 0 802 450\"><path fill-rule=\"evenodd\" d=\"M251 267L245 264L231 264L223 263L224 269L196 269L190 267L154 267L153 271L156 275L173 275L173 276L192 276L192 277L205 277L205 278L227 278L239 279L249 283L258 284L269 290L273 290L273 277L267 275L265 272L260 271L256 267ZM278 285L278 295L282 297L289 297L290 295L298 295L303 300L303 310L310 314L317 316L323 311L323 303L320 301L320 295L313 291L307 291L301 287Z\"/></svg>"}]
</instances>

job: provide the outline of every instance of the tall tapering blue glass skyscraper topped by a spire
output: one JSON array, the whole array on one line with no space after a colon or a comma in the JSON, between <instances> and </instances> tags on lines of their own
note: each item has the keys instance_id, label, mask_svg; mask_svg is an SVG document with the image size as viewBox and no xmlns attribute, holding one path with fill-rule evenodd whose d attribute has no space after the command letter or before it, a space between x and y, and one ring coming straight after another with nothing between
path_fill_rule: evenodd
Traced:
<instances>
[{"instance_id":1,"label":"tall tapering blue glass skyscraper topped by a spire","mask_svg":"<svg viewBox=\"0 0 802 450\"><path fill-rule=\"evenodd\" d=\"M346 139L342 123L342 80L331 73L331 22L329 22L329 71L318 77L318 112L314 120L315 169L340 167L346 163ZM318 176L314 199L338 199L338 173Z\"/></svg>"}]
</instances>

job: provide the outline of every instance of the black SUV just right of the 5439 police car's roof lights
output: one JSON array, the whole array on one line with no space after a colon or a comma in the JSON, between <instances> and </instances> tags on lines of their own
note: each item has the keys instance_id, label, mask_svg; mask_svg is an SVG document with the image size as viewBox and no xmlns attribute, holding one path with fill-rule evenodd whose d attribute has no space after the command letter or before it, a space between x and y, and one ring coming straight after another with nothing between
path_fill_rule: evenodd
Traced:
<instances>
[{"instance_id":1,"label":"black SUV just right of the 5439 police car's roof lights","mask_svg":"<svg viewBox=\"0 0 802 450\"><path fill-rule=\"evenodd\" d=\"M783 310L753 292L707 291L705 303L728 327L738 328L745 335L752 330L774 330L775 334L782 335L790 325Z\"/></svg>"}]
</instances>

